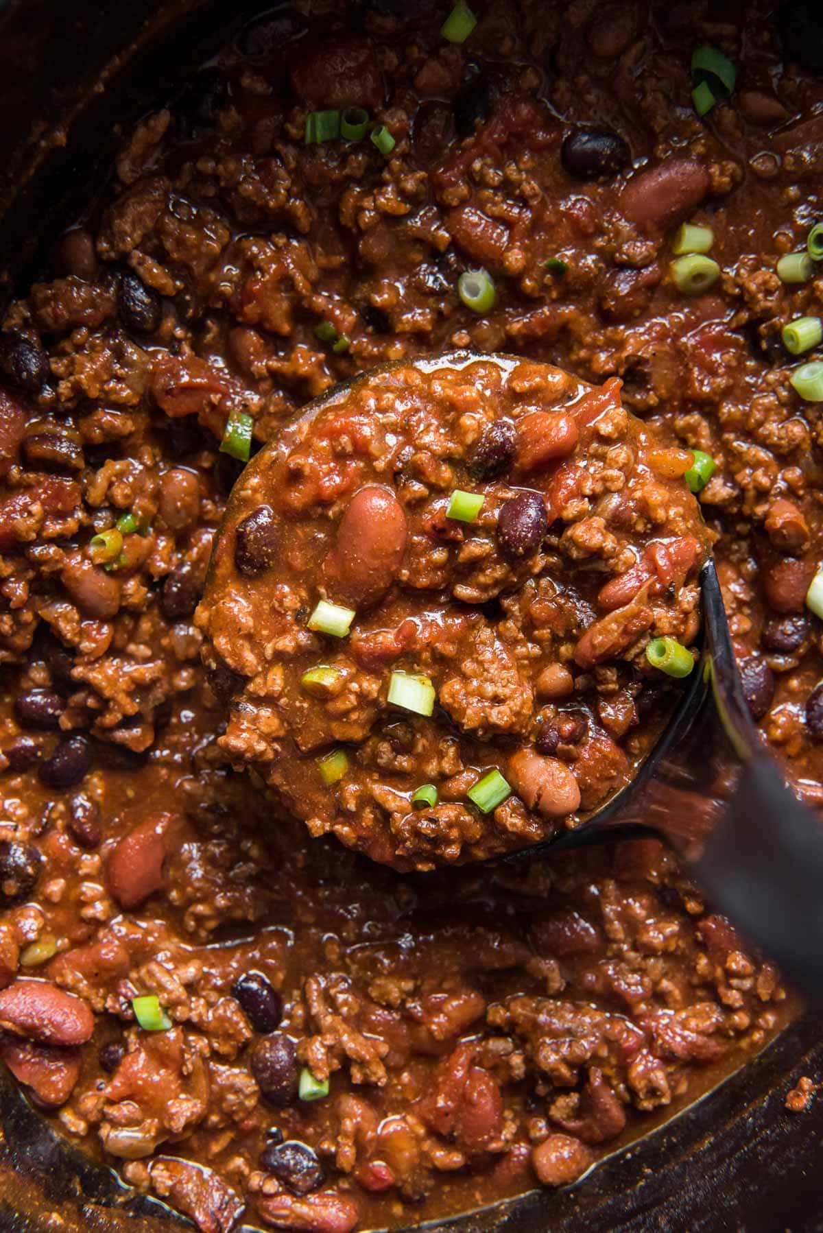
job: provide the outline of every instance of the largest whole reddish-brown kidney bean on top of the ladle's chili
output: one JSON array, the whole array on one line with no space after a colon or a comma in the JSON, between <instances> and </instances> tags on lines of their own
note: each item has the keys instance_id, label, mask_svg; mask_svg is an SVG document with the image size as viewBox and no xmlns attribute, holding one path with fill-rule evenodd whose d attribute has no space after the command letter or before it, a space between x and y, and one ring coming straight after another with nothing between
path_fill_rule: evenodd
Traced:
<instances>
[{"instance_id":1,"label":"largest whole reddish-brown kidney bean on top of the ladle's chili","mask_svg":"<svg viewBox=\"0 0 823 1233\"><path fill-rule=\"evenodd\" d=\"M323 562L332 598L355 609L376 604L402 565L406 534L406 514L394 492L378 485L355 492Z\"/></svg>"}]
</instances>

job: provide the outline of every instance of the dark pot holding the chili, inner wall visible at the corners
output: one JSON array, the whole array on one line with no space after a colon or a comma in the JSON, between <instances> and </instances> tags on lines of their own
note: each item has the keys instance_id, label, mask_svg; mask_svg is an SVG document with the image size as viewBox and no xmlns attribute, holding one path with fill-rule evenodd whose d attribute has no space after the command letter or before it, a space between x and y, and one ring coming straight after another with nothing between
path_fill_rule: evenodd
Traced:
<instances>
[{"instance_id":1,"label":"dark pot holding the chili, inner wall visible at the corners","mask_svg":"<svg viewBox=\"0 0 823 1233\"><path fill-rule=\"evenodd\" d=\"M120 132L264 0L0 0L0 271L9 296L81 211ZM756 6L758 12L760 6ZM753 20L756 15L753 10ZM104 89L94 91L101 81ZM167 90L168 92L168 90ZM120 132L117 126L122 126ZM790 1113L823 1036L795 1023L709 1096L577 1185L427 1226L454 1233L823 1231L823 1100ZM0 1075L0 1233L191 1228L56 1134Z\"/></svg>"}]
</instances>

